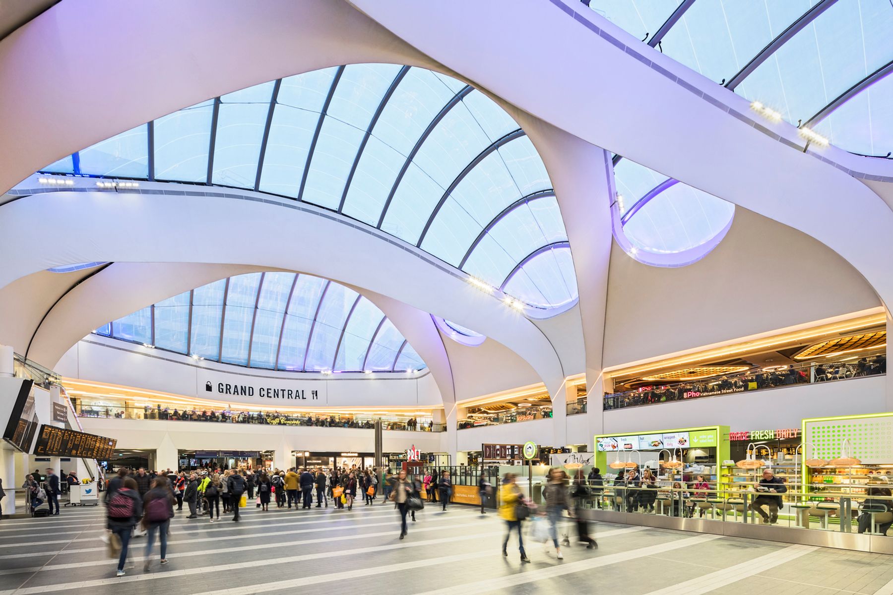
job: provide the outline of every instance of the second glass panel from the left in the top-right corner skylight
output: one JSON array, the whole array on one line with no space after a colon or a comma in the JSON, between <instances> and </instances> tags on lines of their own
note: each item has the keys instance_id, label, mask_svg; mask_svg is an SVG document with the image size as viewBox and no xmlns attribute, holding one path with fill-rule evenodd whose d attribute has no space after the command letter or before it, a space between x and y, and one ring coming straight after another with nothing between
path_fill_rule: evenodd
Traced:
<instances>
[{"instance_id":1,"label":"second glass panel from the left in the top-right corner skylight","mask_svg":"<svg viewBox=\"0 0 893 595\"><path fill-rule=\"evenodd\" d=\"M663 36L663 53L719 83L807 12L807 0L695 2Z\"/></svg>"}]
</instances>

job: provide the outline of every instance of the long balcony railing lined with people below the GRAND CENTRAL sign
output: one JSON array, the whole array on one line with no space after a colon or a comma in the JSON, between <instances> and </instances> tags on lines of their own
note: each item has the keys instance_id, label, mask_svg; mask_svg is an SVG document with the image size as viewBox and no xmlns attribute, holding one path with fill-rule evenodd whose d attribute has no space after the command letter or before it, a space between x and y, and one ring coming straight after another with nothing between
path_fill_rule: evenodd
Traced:
<instances>
[{"instance_id":1,"label":"long balcony railing lined with people below the GRAND CENTRAL sign","mask_svg":"<svg viewBox=\"0 0 893 595\"><path fill-rule=\"evenodd\" d=\"M381 420L382 429L405 432L445 432L447 426L432 420L418 420L414 425L408 420L396 421L382 417L357 415L319 416L280 411L239 411L234 409L170 409L146 405L145 407L110 406L79 402L75 405L78 417L108 417L117 419L147 419L161 421L192 421L215 424L255 424L260 426L308 426L344 427L368 429Z\"/></svg>"}]
</instances>

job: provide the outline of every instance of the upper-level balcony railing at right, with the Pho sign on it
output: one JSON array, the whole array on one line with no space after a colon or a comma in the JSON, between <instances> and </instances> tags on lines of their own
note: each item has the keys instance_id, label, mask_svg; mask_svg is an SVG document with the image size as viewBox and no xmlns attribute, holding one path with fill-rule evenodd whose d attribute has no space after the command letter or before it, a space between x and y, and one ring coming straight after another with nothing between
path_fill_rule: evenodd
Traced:
<instances>
[{"instance_id":1,"label":"upper-level balcony railing at right, with the Pho sign on it","mask_svg":"<svg viewBox=\"0 0 893 595\"><path fill-rule=\"evenodd\" d=\"M758 368L739 374L714 376L694 382L662 384L622 393L605 395L605 409L638 407L668 401L688 401L724 394L747 393L765 389L846 380L887 373L886 356L859 360L809 362L783 368Z\"/></svg>"}]
</instances>

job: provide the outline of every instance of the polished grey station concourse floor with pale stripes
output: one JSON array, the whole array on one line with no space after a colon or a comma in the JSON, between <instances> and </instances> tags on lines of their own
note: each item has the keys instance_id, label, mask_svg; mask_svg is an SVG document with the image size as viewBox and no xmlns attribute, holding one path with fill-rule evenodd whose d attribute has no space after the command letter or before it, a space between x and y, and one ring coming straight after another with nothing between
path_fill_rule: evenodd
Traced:
<instances>
[{"instance_id":1,"label":"polished grey station concourse floor with pale stripes","mask_svg":"<svg viewBox=\"0 0 893 595\"><path fill-rule=\"evenodd\" d=\"M893 557L646 527L597 524L598 549L563 548L564 559L516 535L508 558L496 514L426 508L403 541L387 504L243 509L243 519L172 521L167 558L143 571L146 538L131 541L127 575L101 541L104 508L0 521L0 595L55 591L128 595L294 591L350 593L581 593L623 595L893 595ZM571 529L570 525L567 529ZM348 586L349 585L349 586Z\"/></svg>"}]
</instances>

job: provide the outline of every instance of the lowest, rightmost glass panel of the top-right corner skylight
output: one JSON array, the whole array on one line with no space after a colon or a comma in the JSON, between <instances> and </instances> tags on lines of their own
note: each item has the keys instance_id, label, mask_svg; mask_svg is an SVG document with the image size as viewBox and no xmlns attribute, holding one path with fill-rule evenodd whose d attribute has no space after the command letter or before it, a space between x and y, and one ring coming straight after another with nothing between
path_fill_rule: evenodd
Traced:
<instances>
[{"instance_id":1,"label":"lowest, rightmost glass panel of the top-right corner skylight","mask_svg":"<svg viewBox=\"0 0 893 595\"><path fill-rule=\"evenodd\" d=\"M852 153L883 157L893 151L893 75L876 81L811 128Z\"/></svg>"}]
</instances>

